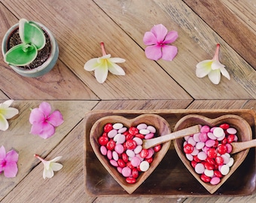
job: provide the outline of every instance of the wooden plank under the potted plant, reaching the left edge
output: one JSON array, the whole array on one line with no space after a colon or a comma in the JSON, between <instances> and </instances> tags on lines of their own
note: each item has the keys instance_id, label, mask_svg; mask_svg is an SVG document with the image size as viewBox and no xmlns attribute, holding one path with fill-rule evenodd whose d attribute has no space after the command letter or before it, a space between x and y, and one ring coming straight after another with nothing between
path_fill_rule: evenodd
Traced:
<instances>
[{"instance_id":1,"label":"wooden plank under the potted plant, reaching the left edge","mask_svg":"<svg viewBox=\"0 0 256 203\"><path fill-rule=\"evenodd\" d=\"M5 32L18 23L16 17L0 4L0 44ZM28 78L16 74L0 54L0 87L13 99L98 99L61 61L56 63L50 73L42 77ZM20 88L20 87L24 88Z\"/></svg>"}]
</instances>

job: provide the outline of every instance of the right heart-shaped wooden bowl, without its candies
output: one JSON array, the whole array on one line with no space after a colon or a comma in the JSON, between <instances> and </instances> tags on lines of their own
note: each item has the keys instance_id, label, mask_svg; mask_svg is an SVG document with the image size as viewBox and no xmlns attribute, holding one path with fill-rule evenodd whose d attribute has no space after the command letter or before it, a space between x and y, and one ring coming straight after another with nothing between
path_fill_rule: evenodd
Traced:
<instances>
[{"instance_id":1,"label":"right heart-shaped wooden bowl, without its candies","mask_svg":"<svg viewBox=\"0 0 256 203\"><path fill-rule=\"evenodd\" d=\"M233 127L237 130L236 135L238 136L238 141L249 141L252 138L251 126L244 120L242 117L236 115L224 115L221 117L217 117L215 119L209 119L207 117L203 117L197 114L190 114L178 120L178 123L175 125L174 131L187 128L189 126L194 126L197 124L207 125L207 126L218 126L221 123L228 123L230 127ZM239 153L233 154L232 157L234 159L234 164L230 168L230 172L221 178L221 182L217 185L212 185L210 183L205 183L200 179L200 175L194 171L194 168L190 165L190 161L187 160L184 152L183 152L183 142L184 138L178 138L174 141L175 150L178 153L181 161L187 167L188 171L197 178L197 180L212 194L214 193L229 177L236 171L236 168L241 165L243 160L248 154L248 150L243 150Z\"/></svg>"}]
</instances>

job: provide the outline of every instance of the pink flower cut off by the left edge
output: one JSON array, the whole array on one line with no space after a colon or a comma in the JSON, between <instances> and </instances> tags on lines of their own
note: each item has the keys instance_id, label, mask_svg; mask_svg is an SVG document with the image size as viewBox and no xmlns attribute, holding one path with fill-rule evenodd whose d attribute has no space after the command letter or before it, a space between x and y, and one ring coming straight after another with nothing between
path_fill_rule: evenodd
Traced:
<instances>
[{"instance_id":1,"label":"pink flower cut off by the left edge","mask_svg":"<svg viewBox=\"0 0 256 203\"><path fill-rule=\"evenodd\" d=\"M5 177L16 177L18 158L19 154L15 150L6 153L5 147L0 147L0 173L4 171Z\"/></svg>"}]
</instances>

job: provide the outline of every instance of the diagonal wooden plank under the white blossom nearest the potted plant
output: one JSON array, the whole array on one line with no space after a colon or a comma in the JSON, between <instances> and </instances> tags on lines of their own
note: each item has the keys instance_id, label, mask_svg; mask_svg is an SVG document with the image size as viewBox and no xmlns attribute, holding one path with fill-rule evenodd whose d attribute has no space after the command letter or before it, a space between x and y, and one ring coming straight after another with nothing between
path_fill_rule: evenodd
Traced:
<instances>
[{"instance_id":1,"label":"diagonal wooden plank under the white blossom nearest the potted plant","mask_svg":"<svg viewBox=\"0 0 256 203\"><path fill-rule=\"evenodd\" d=\"M154 61L145 58L141 47L126 35L92 1L36 0L2 1L17 17L37 20L47 26L59 42L59 59L101 99L190 99L190 95ZM31 8L39 13L30 12ZM57 26L55 26L57 25ZM102 56L100 41L107 53L126 59L125 76L109 74L100 84L84 63Z\"/></svg>"}]
</instances>

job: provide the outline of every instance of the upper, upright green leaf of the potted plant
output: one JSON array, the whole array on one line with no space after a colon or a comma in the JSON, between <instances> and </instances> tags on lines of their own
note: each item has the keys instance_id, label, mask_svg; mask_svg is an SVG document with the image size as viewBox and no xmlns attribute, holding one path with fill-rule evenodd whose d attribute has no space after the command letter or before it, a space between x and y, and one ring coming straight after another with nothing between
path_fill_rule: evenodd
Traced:
<instances>
[{"instance_id":1,"label":"upper, upright green leaf of the potted plant","mask_svg":"<svg viewBox=\"0 0 256 203\"><path fill-rule=\"evenodd\" d=\"M24 44L35 44L38 50L41 50L46 42L44 31L41 27L26 19L20 19L19 35Z\"/></svg>"}]
</instances>

